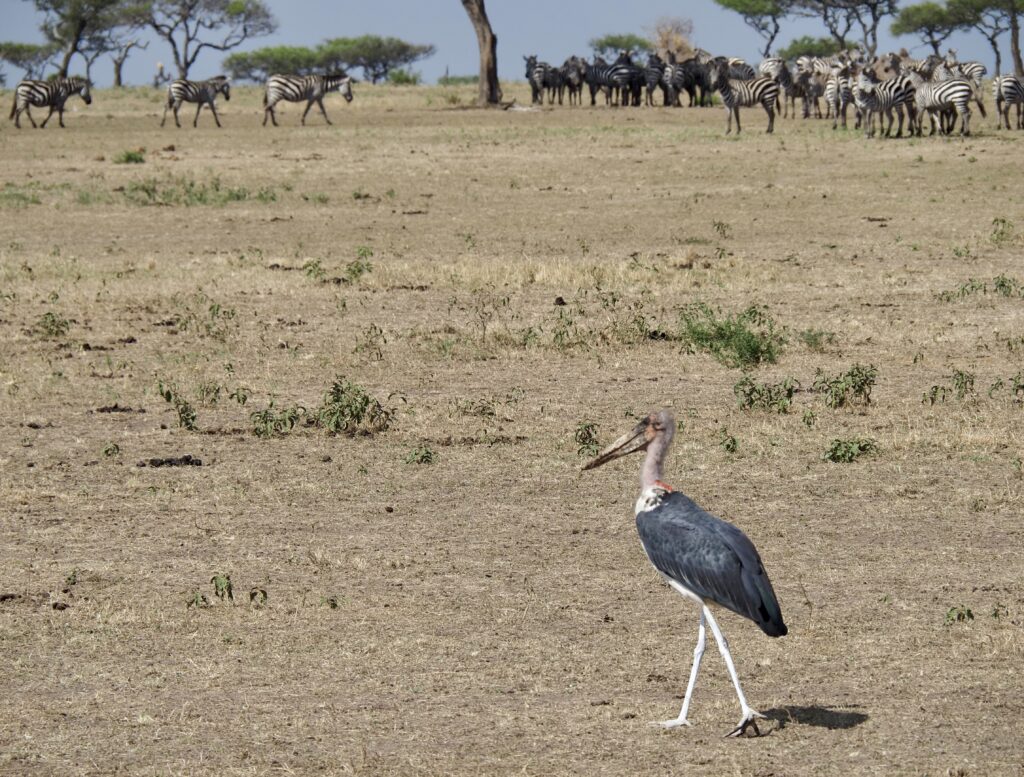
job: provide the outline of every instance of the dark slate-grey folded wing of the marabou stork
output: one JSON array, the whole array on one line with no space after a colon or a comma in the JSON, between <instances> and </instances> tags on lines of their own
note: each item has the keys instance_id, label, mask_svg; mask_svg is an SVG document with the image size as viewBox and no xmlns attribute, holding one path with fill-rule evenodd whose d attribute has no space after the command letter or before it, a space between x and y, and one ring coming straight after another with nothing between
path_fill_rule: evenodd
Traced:
<instances>
[{"instance_id":1,"label":"dark slate-grey folded wing of the marabou stork","mask_svg":"<svg viewBox=\"0 0 1024 777\"><path fill-rule=\"evenodd\" d=\"M637 516L654 567L702 599L749 617L769 637L785 635L782 612L754 544L679 492Z\"/></svg>"}]
</instances>

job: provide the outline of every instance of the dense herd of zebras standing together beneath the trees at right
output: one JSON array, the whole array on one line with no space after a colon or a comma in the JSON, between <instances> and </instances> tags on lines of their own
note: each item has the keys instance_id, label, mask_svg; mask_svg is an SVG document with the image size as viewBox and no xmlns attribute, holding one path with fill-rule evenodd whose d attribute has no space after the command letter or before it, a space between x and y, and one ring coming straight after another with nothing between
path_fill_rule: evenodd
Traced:
<instances>
[{"instance_id":1,"label":"dense herd of zebras standing together beneath the trees at right","mask_svg":"<svg viewBox=\"0 0 1024 777\"><path fill-rule=\"evenodd\" d=\"M951 133L959 122L961 134L970 134L971 103L984 117L982 80L986 75L981 62L956 60L955 51L946 57L931 55L911 59L905 52L867 58L854 50L833 57L802 56L792 62L779 57L763 60L757 69L736 57L712 56L696 49L693 56L678 61L669 52L648 56L646 63L634 61L632 51L620 52L613 62L601 57L592 61L571 56L561 67L523 57L526 80L535 104L563 103L565 91L569 104L582 103L584 88L590 90L590 103L597 103L602 92L606 104L653 105L660 90L663 104L679 105L682 92L689 104L711 104L712 92L718 92L728 111L726 134L735 119L739 132L739 109L760 104L768 115L768 132L775 126L779 110L783 118L797 115L797 100L803 103L803 117L830 118L833 128L846 128L849 112L855 114L855 127L867 136L878 132L896 135L904 126L911 135L921 135L927 118L930 134ZM1010 129L1010 110L1016 107L1017 129L1024 129L1024 85L1017 76L996 76L992 92L998 112L998 126ZM821 112L821 102L825 113ZM886 126L883 127L883 124Z\"/></svg>"}]
</instances>

